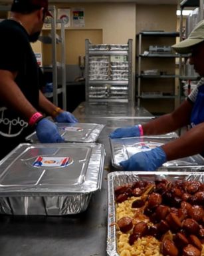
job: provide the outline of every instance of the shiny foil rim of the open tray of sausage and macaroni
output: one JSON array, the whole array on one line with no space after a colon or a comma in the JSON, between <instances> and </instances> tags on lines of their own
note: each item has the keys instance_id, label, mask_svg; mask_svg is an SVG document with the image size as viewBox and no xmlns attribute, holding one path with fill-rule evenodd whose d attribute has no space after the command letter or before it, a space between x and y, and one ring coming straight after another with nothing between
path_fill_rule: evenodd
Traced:
<instances>
[{"instance_id":1,"label":"shiny foil rim of the open tray of sausage and macaroni","mask_svg":"<svg viewBox=\"0 0 204 256\"><path fill-rule=\"evenodd\" d=\"M115 171L108 174L108 235L107 254L108 256L119 256L116 241L116 205L114 189L120 185L132 183L134 181L155 181L157 179L167 179L168 181L185 180L199 181L204 183L204 175L194 172L153 172L153 171Z\"/></svg>"}]
</instances>

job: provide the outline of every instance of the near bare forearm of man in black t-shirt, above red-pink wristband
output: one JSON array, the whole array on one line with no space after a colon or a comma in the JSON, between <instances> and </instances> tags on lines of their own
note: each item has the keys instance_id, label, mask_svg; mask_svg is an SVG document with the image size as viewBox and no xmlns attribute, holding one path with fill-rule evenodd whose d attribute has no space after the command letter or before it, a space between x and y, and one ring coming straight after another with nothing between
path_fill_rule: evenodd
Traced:
<instances>
[{"instance_id":1,"label":"near bare forearm of man in black t-shirt, above red-pink wristband","mask_svg":"<svg viewBox=\"0 0 204 256\"><path fill-rule=\"evenodd\" d=\"M16 76L16 72L0 70L0 99L6 107L15 110L26 121L29 121L37 109L29 103L15 83Z\"/></svg>"}]
</instances>

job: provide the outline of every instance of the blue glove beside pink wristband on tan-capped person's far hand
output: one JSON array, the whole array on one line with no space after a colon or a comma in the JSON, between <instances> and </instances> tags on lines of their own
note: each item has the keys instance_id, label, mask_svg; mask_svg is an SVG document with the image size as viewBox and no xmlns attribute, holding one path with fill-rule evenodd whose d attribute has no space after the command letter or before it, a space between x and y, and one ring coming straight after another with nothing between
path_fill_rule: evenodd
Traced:
<instances>
[{"instance_id":1,"label":"blue glove beside pink wristband on tan-capped person's far hand","mask_svg":"<svg viewBox=\"0 0 204 256\"><path fill-rule=\"evenodd\" d=\"M140 129L138 125L118 128L110 133L110 138L123 138L123 137L140 137Z\"/></svg>"}]
</instances>

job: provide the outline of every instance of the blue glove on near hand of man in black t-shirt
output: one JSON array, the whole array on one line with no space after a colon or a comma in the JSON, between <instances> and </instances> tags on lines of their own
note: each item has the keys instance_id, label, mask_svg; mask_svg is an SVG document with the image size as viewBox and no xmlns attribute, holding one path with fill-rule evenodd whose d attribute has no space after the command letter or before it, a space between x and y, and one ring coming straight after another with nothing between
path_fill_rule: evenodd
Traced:
<instances>
[{"instance_id":1,"label":"blue glove on near hand of man in black t-shirt","mask_svg":"<svg viewBox=\"0 0 204 256\"><path fill-rule=\"evenodd\" d=\"M36 134L41 143L61 143L64 139L58 133L56 125L48 119L41 119L37 123Z\"/></svg>"}]
</instances>

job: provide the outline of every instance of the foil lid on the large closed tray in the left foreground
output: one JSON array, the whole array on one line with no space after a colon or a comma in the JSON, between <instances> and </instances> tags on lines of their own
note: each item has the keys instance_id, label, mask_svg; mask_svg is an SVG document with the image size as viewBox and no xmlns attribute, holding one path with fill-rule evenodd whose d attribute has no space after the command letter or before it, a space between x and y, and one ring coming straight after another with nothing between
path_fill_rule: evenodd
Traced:
<instances>
[{"instance_id":1,"label":"foil lid on the large closed tray in the left foreground","mask_svg":"<svg viewBox=\"0 0 204 256\"><path fill-rule=\"evenodd\" d=\"M0 161L0 197L91 193L102 183L102 144L25 144Z\"/></svg>"}]
</instances>

